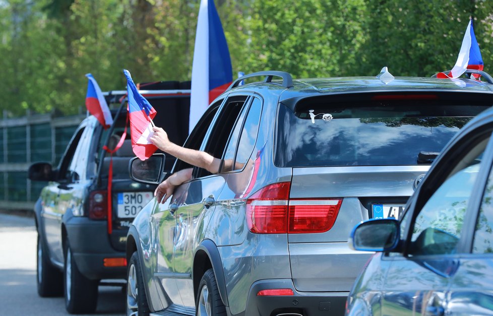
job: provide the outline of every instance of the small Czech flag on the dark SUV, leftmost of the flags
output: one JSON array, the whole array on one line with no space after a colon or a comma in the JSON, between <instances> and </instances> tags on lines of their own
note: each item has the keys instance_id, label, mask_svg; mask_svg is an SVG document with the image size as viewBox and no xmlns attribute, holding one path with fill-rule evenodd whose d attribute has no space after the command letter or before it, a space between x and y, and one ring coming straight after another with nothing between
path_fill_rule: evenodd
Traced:
<instances>
[{"instance_id":1,"label":"small Czech flag on the dark SUV, leftmost of the flags","mask_svg":"<svg viewBox=\"0 0 493 316\"><path fill-rule=\"evenodd\" d=\"M108 104L104 99L96 79L94 79L91 74L87 74L86 77L89 79L87 84L86 108L89 113L98 119L104 129L106 129L113 123L113 117L111 117Z\"/></svg>"}]
</instances>

